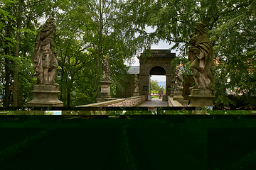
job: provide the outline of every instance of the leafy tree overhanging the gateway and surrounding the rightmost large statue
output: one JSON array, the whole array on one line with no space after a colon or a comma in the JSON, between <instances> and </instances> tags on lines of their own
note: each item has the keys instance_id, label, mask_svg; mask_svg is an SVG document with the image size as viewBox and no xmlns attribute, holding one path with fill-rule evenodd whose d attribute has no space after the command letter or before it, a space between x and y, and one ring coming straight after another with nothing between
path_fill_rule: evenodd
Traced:
<instances>
[{"instance_id":1,"label":"leafy tree overhanging the gateway and surrounding the rightmost large statue","mask_svg":"<svg viewBox=\"0 0 256 170\"><path fill-rule=\"evenodd\" d=\"M206 23L213 44L213 60L219 64L215 72L215 106L228 106L226 89L245 91L245 105L255 95L255 1L131 1L140 6L140 23L155 29L152 35L158 40L174 42L172 50L180 50L181 58L187 57L188 38L196 22ZM189 67L189 64L183 63ZM188 69L187 69L188 70ZM230 82L228 82L228 78ZM242 81L241 81L242 80ZM249 99L250 98L250 99Z\"/></svg>"}]
</instances>

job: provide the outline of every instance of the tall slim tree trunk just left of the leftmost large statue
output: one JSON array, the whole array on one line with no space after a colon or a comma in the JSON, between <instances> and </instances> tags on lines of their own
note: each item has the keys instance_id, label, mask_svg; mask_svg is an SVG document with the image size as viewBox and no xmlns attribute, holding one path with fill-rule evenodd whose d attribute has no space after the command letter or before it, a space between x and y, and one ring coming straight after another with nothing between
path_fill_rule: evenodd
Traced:
<instances>
[{"instance_id":1,"label":"tall slim tree trunk just left of the leftmost large statue","mask_svg":"<svg viewBox=\"0 0 256 170\"><path fill-rule=\"evenodd\" d=\"M20 51L20 30L21 30L21 13L22 13L22 3L23 0L18 0L18 16L17 16L17 33L16 33L16 51L15 57L19 57ZM15 62L14 64L14 92L13 92L13 99L14 103L13 106L18 106L18 63Z\"/></svg>"}]
</instances>

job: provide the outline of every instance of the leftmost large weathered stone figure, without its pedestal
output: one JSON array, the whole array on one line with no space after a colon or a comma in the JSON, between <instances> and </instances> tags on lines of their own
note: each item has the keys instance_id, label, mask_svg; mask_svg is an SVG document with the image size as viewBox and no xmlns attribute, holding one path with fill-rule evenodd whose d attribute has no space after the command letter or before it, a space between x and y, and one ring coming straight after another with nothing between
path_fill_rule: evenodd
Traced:
<instances>
[{"instance_id":1,"label":"leftmost large weathered stone figure, without its pedestal","mask_svg":"<svg viewBox=\"0 0 256 170\"><path fill-rule=\"evenodd\" d=\"M58 69L58 58L53 45L55 31L55 20L53 17L50 17L36 36L32 61L35 63L33 69L36 71L37 84L58 86L54 81Z\"/></svg>"}]
</instances>

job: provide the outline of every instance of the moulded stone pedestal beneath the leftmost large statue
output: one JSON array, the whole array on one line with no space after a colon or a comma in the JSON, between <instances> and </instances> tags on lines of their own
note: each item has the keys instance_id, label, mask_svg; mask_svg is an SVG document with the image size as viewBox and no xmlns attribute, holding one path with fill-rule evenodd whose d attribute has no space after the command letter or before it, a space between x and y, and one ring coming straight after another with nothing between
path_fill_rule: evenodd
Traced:
<instances>
[{"instance_id":1,"label":"moulded stone pedestal beneath the leftmost large statue","mask_svg":"<svg viewBox=\"0 0 256 170\"><path fill-rule=\"evenodd\" d=\"M33 107L62 107L63 102L58 99L60 93L58 86L35 85L33 89L33 100L27 106Z\"/></svg>"}]
</instances>

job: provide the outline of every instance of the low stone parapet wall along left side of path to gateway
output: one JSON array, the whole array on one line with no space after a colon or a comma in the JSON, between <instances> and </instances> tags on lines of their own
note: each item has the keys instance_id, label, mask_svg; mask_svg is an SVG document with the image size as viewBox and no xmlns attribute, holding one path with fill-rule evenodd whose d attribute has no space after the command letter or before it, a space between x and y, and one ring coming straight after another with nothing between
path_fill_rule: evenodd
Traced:
<instances>
[{"instance_id":1,"label":"low stone parapet wall along left side of path to gateway","mask_svg":"<svg viewBox=\"0 0 256 170\"><path fill-rule=\"evenodd\" d=\"M130 98L119 98L111 101L102 101L99 103L92 103L77 107L133 107L146 101L146 95L144 96L134 96Z\"/></svg>"}]
</instances>

